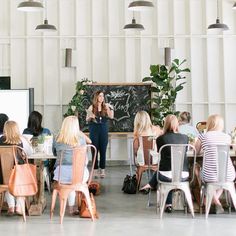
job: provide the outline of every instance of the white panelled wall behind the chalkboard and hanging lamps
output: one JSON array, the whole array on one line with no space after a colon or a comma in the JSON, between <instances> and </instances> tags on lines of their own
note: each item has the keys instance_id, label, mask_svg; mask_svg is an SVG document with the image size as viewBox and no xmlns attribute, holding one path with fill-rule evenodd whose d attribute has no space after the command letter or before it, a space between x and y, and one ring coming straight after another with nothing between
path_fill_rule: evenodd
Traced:
<instances>
[{"instance_id":1,"label":"white panelled wall behind the chalkboard and hanging lamps","mask_svg":"<svg viewBox=\"0 0 236 236\"><path fill-rule=\"evenodd\" d=\"M140 82L150 64L164 63L165 46L173 47L173 59L186 58L192 71L177 109L192 112L194 124L220 113L227 132L236 126L233 1L219 0L230 28L222 35L207 32L216 0L153 0L151 12L135 13L145 27L137 34L123 31L131 22L131 0L48 0L48 20L58 31L45 34L34 30L43 13L19 12L20 2L0 0L0 74L11 76L12 88L35 88L35 109L52 131L60 127L77 80ZM65 48L75 50L75 67L64 67Z\"/></svg>"}]
</instances>

